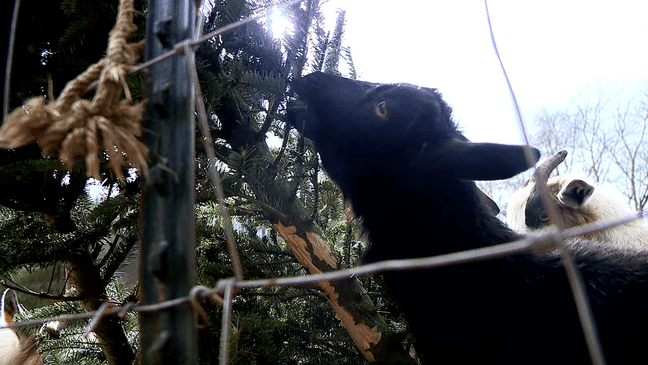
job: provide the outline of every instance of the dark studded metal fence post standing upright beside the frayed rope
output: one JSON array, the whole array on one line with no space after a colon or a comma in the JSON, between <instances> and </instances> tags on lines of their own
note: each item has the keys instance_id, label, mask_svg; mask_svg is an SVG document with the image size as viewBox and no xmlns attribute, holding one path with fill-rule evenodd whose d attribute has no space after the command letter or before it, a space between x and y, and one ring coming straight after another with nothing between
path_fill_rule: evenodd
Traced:
<instances>
[{"instance_id":1,"label":"dark studded metal fence post standing upright beside the frayed rope","mask_svg":"<svg viewBox=\"0 0 648 365\"><path fill-rule=\"evenodd\" d=\"M146 58L190 39L193 0L149 0ZM140 290L144 305L186 297L195 281L193 91L185 57L149 68L145 142L150 177L142 189ZM190 304L141 313L143 364L196 364Z\"/></svg>"}]
</instances>

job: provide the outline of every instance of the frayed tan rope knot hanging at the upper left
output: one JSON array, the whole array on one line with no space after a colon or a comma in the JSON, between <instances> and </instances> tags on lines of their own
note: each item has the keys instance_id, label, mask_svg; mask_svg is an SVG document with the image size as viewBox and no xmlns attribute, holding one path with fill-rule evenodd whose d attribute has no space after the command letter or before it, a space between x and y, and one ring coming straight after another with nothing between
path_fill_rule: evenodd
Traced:
<instances>
[{"instance_id":1,"label":"frayed tan rope knot hanging at the upper left","mask_svg":"<svg viewBox=\"0 0 648 365\"><path fill-rule=\"evenodd\" d=\"M146 174L148 149L140 141L144 103L133 103L126 75L138 60L144 42L128 43L137 29L133 0L121 0L117 22L110 31L106 57L65 85L57 100L29 100L7 116L0 129L0 147L17 148L38 142L43 155L58 157L72 169L84 157L87 175L100 178L99 154L108 155L110 168L120 181L123 169ZM91 100L83 99L98 81Z\"/></svg>"}]
</instances>

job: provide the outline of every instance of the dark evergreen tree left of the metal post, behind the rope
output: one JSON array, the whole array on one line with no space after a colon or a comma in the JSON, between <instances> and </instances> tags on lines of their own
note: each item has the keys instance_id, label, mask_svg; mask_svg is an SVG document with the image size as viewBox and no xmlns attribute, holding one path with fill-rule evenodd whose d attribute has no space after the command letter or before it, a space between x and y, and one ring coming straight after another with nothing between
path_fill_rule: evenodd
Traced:
<instances>
[{"instance_id":1,"label":"dark evergreen tree left of the metal post, behind the rope","mask_svg":"<svg viewBox=\"0 0 648 365\"><path fill-rule=\"evenodd\" d=\"M68 81L103 56L118 1L40 1L30 5L23 2L17 23L12 108L30 97L57 95ZM139 22L143 19L140 14ZM141 32L138 36L142 37ZM139 81L134 78L129 82ZM102 163L107 163L106 156ZM34 287L17 288L57 302L28 316L51 318L69 313L70 307L62 306L65 303L72 303L77 312L93 311L104 301L119 303L121 294L133 290L117 291L115 274L132 259L138 240L136 176L121 187L124 194L110 194L94 204L86 191L83 164L68 172L60 161L43 157L36 144L0 150L0 175L0 205L6 208L0 217L0 275L24 283L17 273L41 269L51 273L50 281L58 279L56 285L38 285L48 288L45 293L35 292ZM101 178L106 190L119 191L111 172L105 170ZM67 275L58 278L62 265ZM65 302L59 302L63 297ZM69 329L83 327L87 321L72 323L59 339L43 340L39 347L49 363L67 355L99 360L87 363L130 363L137 342L127 322L116 317L101 321L94 340L82 349L68 346L70 341L79 341ZM38 327L25 330L39 333Z\"/></svg>"}]
</instances>

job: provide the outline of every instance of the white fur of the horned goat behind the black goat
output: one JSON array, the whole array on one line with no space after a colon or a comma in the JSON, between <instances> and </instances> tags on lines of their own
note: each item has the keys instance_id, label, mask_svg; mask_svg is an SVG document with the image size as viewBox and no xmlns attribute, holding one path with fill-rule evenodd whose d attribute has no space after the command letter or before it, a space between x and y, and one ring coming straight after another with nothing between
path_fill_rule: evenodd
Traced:
<instances>
[{"instance_id":1,"label":"white fur of the horned goat behind the black goat","mask_svg":"<svg viewBox=\"0 0 648 365\"><path fill-rule=\"evenodd\" d=\"M549 179L547 187L552 194L557 193L562 187L574 180L580 179L587 181L581 177L572 175L562 175ZM595 184L588 182L590 185ZM507 223L511 229L525 234L530 231L525 223L525 208L526 202L534 189L534 184L529 184L522 189L517 190L513 196L507 209ZM554 199L554 202L559 205L559 211L562 219L565 222L565 228L571 228L582 224L596 224L603 222L612 222L619 218L626 217L632 212L622 206L618 198L613 198L614 195L606 194L599 187L594 188L592 195L583 202L579 207L568 207ZM619 247L635 248L635 249L648 249L648 227L641 220L635 220L621 226L610 228L604 232L587 235L586 238L601 242L612 244Z\"/></svg>"}]
</instances>

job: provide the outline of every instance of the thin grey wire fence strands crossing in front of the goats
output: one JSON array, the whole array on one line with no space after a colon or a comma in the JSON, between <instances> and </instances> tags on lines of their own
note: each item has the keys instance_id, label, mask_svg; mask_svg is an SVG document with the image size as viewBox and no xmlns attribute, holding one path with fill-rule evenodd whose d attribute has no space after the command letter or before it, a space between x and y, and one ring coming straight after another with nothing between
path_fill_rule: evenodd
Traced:
<instances>
[{"instance_id":1,"label":"thin grey wire fence strands crossing in front of the goats","mask_svg":"<svg viewBox=\"0 0 648 365\"><path fill-rule=\"evenodd\" d=\"M277 4L275 6L288 7L298 3L301 3L303 0L295 0L291 2ZM515 93L513 92L512 85L506 74L506 69L502 62L502 59L497 50L497 44L495 41L495 35L492 31L492 26L490 22L490 14L488 11L488 2L484 0L484 5L486 8L486 15L488 17L488 25L490 29L490 35L493 42L493 47L496 52L498 61L500 63L502 72L506 79L511 97L516 108L518 122L521 130L523 131L524 137L528 144L528 135L527 128L524 120L522 119L517 100L515 99ZM225 27L217 29L214 32L211 32L206 35L202 35L202 18L198 17L199 26L196 27L197 32L194 35L193 39L186 40L184 42L178 43L173 47L173 50L160 56L155 59L146 61L136 67L133 67L130 71L130 74L136 72L141 72L147 67L150 67L156 63L163 62L173 56L181 55L186 57L188 64L188 71L190 75L191 87L195 90L196 93L196 110L198 112L199 126L201 133L204 138L202 138L205 149L207 150L209 158L209 173L211 181L213 182L213 187L215 194L217 196L218 203L221 208L221 215L223 221L225 222L225 232L226 232L226 241L228 250L230 253L230 258L232 260L232 269L234 272L234 277L222 279L217 282L213 288L208 288L204 286L195 286L190 291L186 297L177 298L169 301L164 301L154 305L139 305L137 303L129 302L123 305L118 305L116 303L106 302L101 305L101 307L95 312L75 314L75 315L66 315L50 318L47 320L35 320L35 321L24 321L19 323L12 323L6 326L0 326L0 328L19 328L33 325L43 325L52 321L72 321L72 320L87 320L90 319L88 326L86 328L86 334L93 331L97 323L101 318L109 315L117 315L120 318L123 318L129 311L144 313L144 312L154 312L169 309L175 306L179 306L185 303L190 303L192 305L195 313L200 317L201 320L207 321L207 315L203 310L199 300L200 299L210 299L215 304L222 307L222 319L221 319L221 343L220 343L220 364L227 364L228 353L229 353L229 333L230 333L230 322L232 318L232 303L234 297L235 289L249 289L249 288L260 288L260 287L272 287L272 286L301 286L304 284L316 283L318 281L340 281L353 278L359 275L369 275L369 274L379 274L387 271L403 271L403 270L417 270L417 269L433 269L450 265L459 265L475 261L488 260L493 258L499 258L504 256L509 256L513 254L519 254L523 252L538 252L546 250L558 250L562 257L562 262L565 266L565 269L568 272L568 279L572 289L572 293L575 298L576 306L578 309L579 317L581 320L581 325L583 327L588 349L590 351L591 359L595 364L604 364L605 360L601 350L598 336L596 334L596 325L594 318L591 314L591 310L588 305L586 291L584 289L583 281L580 277L578 269L575 267L574 262L569 254L569 250L565 246L565 240L569 238L574 238L590 233L595 233L603 231L615 226L623 225L634 221L636 219L641 219L648 216L648 211L640 211L633 214L629 214L619 220L613 222L605 222L598 224L590 224L585 226L578 226L570 229L562 230L559 225L554 224L550 229L542 231L538 235L532 235L527 237L524 240L510 242L506 244L484 247L479 249L472 249L466 251L459 251L451 254L444 254L434 257L427 258L414 258L406 260L389 260L381 261L378 263L372 263L367 265L360 265L355 268L338 270L334 272L322 273L322 274L312 274L306 276L295 276L295 277L282 277L275 279L264 279L264 280L243 280L241 263L239 260L239 253L236 249L236 243L234 242L234 235L232 232L232 222L230 217L227 214L227 209L224 201L223 188L220 181L220 176L216 170L217 158L214 150L214 144L211 139L211 134L209 133L208 118L203 102L198 74L195 65L195 50L198 45L202 42L208 41L213 37L216 37L220 34L226 33L238 27L244 26L250 22L261 19L267 16L267 12L271 7L261 11L255 15L247 17L238 22L229 24ZM96 87L96 84L90 85L89 89ZM6 101L5 101L6 102ZM5 109L6 110L6 109ZM6 114L5 114L6 115ZM532 157L529 155L528 160L532 161ZM545 209L550 213L553 219L556 219L557 214L553 211L555 208L549 201L549 192L546 189L545 184L538 184L541 196L543 197L543 205ZM555 223L555 222L554 222Z\"/></svg>"}]
</instances>

